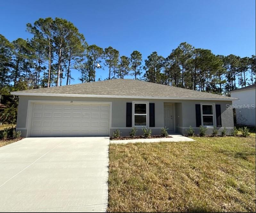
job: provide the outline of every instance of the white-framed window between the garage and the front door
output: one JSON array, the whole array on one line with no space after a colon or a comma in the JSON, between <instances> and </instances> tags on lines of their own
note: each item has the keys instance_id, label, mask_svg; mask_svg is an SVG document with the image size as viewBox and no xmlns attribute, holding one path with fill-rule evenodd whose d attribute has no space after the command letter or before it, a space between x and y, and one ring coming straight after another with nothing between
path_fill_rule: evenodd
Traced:
<instances>
[{"instance_id":1,"label":"white-framed window between the garage and the front door","mask_svg":"<svg viewBox=\"0 0 256 213\"><path fill-rule=\"evenodd\" d=\"M134 104L134 126L147 126L147 104Z\"/></svg>"}]
</instances>

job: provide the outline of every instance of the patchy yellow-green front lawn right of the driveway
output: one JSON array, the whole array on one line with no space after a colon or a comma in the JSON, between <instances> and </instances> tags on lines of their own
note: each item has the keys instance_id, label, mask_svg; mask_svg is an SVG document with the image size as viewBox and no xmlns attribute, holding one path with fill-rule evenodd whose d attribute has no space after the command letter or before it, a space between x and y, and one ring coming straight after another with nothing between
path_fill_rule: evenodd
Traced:
<instances>
[{"instance_id":1,"label":"patchy yellow-green front lawn right of the driveway","mask_svg":"<svg viewBox=\"0 0 256 213\"><path fill-rule=\"evenodd\" d=\"M109 212L255 212L255 134L110 144Z\"/></svg>"}]
</instances>

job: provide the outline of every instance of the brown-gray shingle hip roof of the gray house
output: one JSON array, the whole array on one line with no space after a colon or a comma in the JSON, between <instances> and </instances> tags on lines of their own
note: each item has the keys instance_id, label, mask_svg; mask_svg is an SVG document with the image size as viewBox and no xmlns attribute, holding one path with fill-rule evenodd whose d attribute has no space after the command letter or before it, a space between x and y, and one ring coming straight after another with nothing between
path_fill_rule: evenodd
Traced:
<instances>
[{"instance_id":1,"label":"brown-gray shingle hip roof of the gray house","mask_svg":"<svg viewBox=\"0 0 256 213\"><path fill-rule=\"evenodd\" d=\"M13 95L235 100L235 98L132 79L112 79L13 92Z\"/></svg>"}]
</instances>

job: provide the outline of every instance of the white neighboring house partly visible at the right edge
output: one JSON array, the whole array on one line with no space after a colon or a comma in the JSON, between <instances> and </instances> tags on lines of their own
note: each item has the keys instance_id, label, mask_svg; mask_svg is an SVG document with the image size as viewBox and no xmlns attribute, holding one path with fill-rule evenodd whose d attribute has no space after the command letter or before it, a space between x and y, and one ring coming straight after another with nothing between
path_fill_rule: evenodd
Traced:
<instances>
[{"instance_id":1,"label":"white neighboring house partly visible at the right edge","mask_svg":"<svg viewBox=\"0 0 256 213\"><path fill-rule=\"evenodd\" d=\"M233 101L236 123L240 125L256 126L256 86L255 84L230 92L231 97L239 98Z\"/></svg>"}]
</instances>

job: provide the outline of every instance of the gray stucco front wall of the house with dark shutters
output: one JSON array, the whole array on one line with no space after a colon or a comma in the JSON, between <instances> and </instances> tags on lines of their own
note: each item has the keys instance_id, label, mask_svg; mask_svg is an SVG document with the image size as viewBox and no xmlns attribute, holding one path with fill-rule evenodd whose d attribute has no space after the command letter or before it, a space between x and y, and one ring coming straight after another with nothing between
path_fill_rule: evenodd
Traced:
<instances>
[{"instance_id":1,"label":"gray stucco front wall of the house with dark shutters","mask_svg":"<svg viewBox=\"0 0 256 213\"><path fill-rule=\"evenodd\" d=\"M126 103L127 102L150 102L155 103L155 127L150 127L153 134L160 134L164 127L164 103L175 103L175 129L176 132L186 134L186 129L192 126L196 129L195 121L195 104L216 103L221 105L222 127L232 128L233 113L232 110L226 109L226 104L231 101L186 101L186 100L153 100L153 99L120 99L120 98L83 98L83 97L54 97L54 96L20 96L17 117L17 130L22 132L22 136L27 133L27 109L28 102L32 101L73 101L75 102L112 102L112 117L110 135L116 128L119 128L122 135L128 135L130 127L126 127ZM215 109L214 109L215 111ZM138 127L138 134L142 134L141 128ZM211 128L209 128L211 130ZM209 131L210 131L209 130Z\"/></svg>"}]
</instances>

